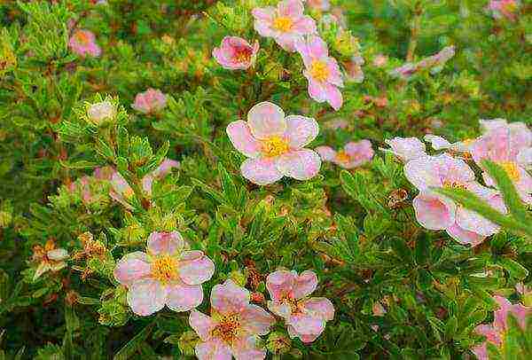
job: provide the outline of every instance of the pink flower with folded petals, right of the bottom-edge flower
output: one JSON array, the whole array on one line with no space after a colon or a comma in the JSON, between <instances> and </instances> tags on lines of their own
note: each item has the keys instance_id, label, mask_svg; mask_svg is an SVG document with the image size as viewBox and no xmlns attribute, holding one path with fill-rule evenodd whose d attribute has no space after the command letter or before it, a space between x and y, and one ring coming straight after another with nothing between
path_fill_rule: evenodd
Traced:
<instances>
[{"instance_id":1,"label":"pink flower with folded petals, right of the bottom-edge flower","mask_svg":"<svg viewBox=\"0 0 532 360\"><path fill-rule=\"evenodd\" d=\"M317 276L313 271L278 270L266 278L270 293L268 309L285 319L288 334L303 342L312 342L323 333L327 321L334 318L332 302L321 297L309 298L317 287Z\"/></svg>"}]
</instances>

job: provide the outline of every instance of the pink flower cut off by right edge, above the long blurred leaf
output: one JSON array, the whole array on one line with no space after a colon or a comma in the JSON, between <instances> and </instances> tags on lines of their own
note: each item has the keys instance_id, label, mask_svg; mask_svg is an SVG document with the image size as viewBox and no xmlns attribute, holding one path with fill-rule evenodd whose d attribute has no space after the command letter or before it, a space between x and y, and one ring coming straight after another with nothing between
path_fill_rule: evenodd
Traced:
<instances>
[{"instance_id":1,"label":"pink flower cut off by right edge, above the long blurred leaf","mask_svg":"<svg viewBox=\"0 0 532 360\"><path fill-rule=\"evenodd\" d=\"M522 122L507 124L502 121L483 122L482 129L487 132L471 145L473 160L479 166L482 160L491 160L504 168L521 200L532 204L532 176L527 172L532 131ZM483 176L487 185L496 185L486 173Z\"/></svg>"}]
</instances>

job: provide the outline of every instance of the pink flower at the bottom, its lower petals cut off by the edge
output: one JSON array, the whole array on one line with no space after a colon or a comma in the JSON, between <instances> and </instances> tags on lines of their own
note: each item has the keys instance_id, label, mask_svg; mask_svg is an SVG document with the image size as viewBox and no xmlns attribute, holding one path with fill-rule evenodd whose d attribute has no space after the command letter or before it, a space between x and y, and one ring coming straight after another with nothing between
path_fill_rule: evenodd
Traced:
<instances>
[{"instance_id":1,"label":"pink flower at the bottom, its lower petals cut off by the edge","mask_svg":"<svg viewBox=\"0 0 532 360\"><path fill-rule=\"evenodd\" d=\"M211 316L194 309L189 324L200 336L196 356L200 360L263 359L258 335L270 333L275 318L249 303L250 293L228 279L211 291Z\"/></svg>"}]
</instances>

